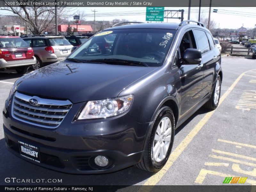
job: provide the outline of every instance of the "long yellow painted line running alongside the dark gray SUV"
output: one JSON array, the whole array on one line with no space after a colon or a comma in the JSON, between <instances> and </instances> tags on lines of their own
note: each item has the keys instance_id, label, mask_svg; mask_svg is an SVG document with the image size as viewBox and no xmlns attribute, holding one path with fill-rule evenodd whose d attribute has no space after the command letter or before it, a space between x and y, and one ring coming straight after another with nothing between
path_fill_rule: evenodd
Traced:
<instances>
[{"instance_id":1,"label":"long yellow painted line running alongside the dark gray SUV","mask_svg":"<svg viewBox=\"0 0 256 192\"><path fill-rule=\"evenodd\" d=\"M251 71L251 70L249 70ZM227 98L229 93L234 89L236 84L239 82L239 80L244 76L245 73L249 72L245 71L240 76L237 77L237 79L234 81L234 83L228 88L228 90L221 96L219 101L219 106ZM205 114L205 116L202 118L201 121L199 121L198 124L188 133L188 135L181 141L181 143L178 145L177 148L173 150L171 153L169 159L167 160L164 167L157 172L156 174L152 175L143 185L150 185L151 188L148 186L147 190L150 191L154 185L158 183L159 180L164 176L164 174L167 172L167 170L172 166L172 164L178 159L180 154L185 150L185 148L188 146L188 144L193 140L193 138L196 136L196 134L202 129L204 124L210 119L210 117L213 115L214 111L208 112ZM141 187L138 191L144 191L145 188Z\"/></svg>"}]
</instances>

